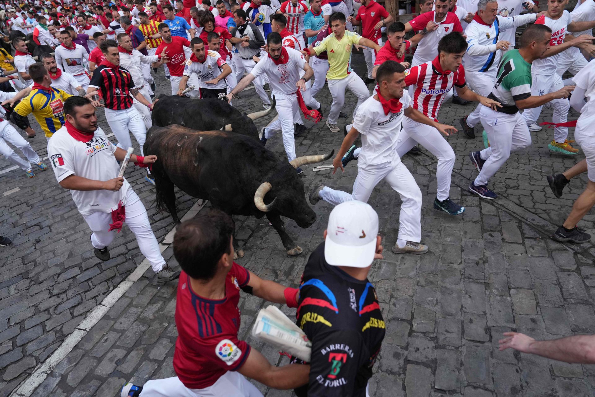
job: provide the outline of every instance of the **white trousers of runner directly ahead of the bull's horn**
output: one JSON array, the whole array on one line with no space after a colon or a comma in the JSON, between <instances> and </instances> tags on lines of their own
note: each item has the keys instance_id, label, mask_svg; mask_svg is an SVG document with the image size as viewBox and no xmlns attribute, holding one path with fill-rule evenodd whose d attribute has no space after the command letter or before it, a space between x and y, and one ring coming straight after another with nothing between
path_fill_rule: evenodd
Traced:
<instances>
[{"instance_id":1,"label":"white trousers of runner directly ahead of the bull's horn","mask_svg":"<svg viewBox=\"0 0 595 397\"><path fill-rule=\"evenodd\" d=\"M353 182L353 193L324 187L320 197L330 204L337 205L345 201L358 200L368 202L372 190L381 180L386 180L390 187L399 193L401 210L399 212L399 239L412 242L421 241L421 190L417 186L405 164L398 157L382 164L358 167L358 176Z\"/></svg>"}]
</instances>

